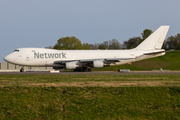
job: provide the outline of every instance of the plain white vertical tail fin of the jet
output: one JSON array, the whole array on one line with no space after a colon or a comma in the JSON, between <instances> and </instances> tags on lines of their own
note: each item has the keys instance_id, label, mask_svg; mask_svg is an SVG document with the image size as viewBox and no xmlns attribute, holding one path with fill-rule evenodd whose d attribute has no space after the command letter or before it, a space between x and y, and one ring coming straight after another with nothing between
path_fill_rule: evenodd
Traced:
<instances>
[{"instance_id":1,"label":"plain white vertical tail fin of the jet","mask_svg":"<svg viewBox=\"0 0 180 120\"><path fill-rule=\"evenodd\" d=\"M148 38L146 38L136 48L137 50L160 50L169 26L160 26L155 32L153 32Z\"/></svg>"}]
</instances>

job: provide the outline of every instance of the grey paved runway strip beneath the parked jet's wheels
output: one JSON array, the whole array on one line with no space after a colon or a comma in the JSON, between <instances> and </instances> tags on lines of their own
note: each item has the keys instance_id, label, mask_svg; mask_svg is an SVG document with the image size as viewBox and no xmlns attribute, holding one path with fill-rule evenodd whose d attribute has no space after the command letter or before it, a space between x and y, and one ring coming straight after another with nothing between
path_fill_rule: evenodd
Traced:
<instances>
[{"instance_id":1,"label":"grey paved runway strip beneath the parked jet's wheels","mask_svg":"<svg viewBox=\"0 0 180 120\"><path fill-rule=\"evenodd\" d=\"M131 72L113 72L113 71L93 71L93 72L59 72L50 73L49 71L27 71L27 72L0 72L0 75L80 75L80 74L180 74L180 71L131 71Z\"/></svg>"}]
</instances>

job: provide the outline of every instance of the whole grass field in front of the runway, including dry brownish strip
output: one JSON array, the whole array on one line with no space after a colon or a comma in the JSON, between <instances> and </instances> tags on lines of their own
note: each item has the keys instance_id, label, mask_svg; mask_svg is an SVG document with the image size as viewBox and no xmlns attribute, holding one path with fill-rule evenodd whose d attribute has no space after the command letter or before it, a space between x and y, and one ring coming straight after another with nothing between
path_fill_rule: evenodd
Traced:
<instances>
[{"instance_id":1,"label":"whole grass field in front of the runway, including dry brownish strip","mask_svg":"<svg viewBox=\"0 0 180 120\"><path fill-rule=\"evenodd\" d=\"M0 75L0 119L180 119L180 75Z\"/></svg>"}]
</instances>

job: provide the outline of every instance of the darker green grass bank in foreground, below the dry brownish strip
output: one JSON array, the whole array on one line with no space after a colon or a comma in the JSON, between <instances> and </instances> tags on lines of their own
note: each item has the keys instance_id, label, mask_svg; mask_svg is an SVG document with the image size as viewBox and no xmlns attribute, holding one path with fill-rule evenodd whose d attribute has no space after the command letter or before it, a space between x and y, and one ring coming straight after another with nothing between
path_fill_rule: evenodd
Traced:
<instances>
[{"instance_id":1,"label":"darker green grass bank in foreground, below the dry brownish strip","mask_svg":"<svg viewBox=\"0 0 180 120\"><path fill-rule=\"evenodd\" d=\"M178 87L3 87L0 119L180 119Z\"/></svg>"}]
</instances>

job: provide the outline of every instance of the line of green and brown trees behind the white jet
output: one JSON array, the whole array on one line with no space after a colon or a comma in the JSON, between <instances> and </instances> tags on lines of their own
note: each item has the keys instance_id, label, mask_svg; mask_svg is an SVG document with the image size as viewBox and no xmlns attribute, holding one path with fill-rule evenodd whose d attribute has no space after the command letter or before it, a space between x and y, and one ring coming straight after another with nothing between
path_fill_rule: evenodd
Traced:
<instances>
[{"instance_id":1,"label":"line of green and brown trees behind the white jet","mask_svg":"<svg viewBox=\"0 0 180 120\"><path fill-rule=\"evenodd\" d=\"M61 37L57 40L57 43L52 47L49 46L47 48L57 49L57 50L105 50L105 49L132 49L137 47L141 42L143 42L149 35L153 33L152 30L145 29L143 33L141 33L140 37L129 38L127 41L124 41L121 44L117 39L111 39L108 41L104 41L102 43L81 43L81 41L74 37ZM178 33L175 36L168 37L164 44L163 49L170 50L180 50L180 34Z\"/></svg>"}]
</instances>

